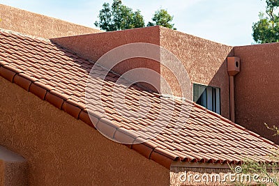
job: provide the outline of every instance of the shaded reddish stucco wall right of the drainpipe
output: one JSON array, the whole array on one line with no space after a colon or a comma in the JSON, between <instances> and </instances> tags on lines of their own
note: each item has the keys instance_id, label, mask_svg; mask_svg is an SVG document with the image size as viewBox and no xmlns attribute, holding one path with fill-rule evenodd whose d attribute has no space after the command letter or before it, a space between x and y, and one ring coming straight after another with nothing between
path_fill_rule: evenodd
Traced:
<instances>
[{"instance_id":1,"label":"shaded reddish stucco wall right of the drainpipe","mask_svg":"<svg viewBox=\"0 0 279 186\"><path fill-rule=\"evenodd\" d=\"M241 59L235 77L236 123L279 144L264 123L279 125L279 43L234 47Z\"/></svg>"}]
</instances>

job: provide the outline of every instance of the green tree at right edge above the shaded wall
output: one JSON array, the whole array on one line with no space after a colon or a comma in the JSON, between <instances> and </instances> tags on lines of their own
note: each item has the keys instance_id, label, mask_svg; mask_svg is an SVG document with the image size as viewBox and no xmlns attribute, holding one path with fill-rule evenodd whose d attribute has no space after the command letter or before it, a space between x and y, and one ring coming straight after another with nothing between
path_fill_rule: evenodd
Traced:
<instances>
[{"instance_id":1,"label":"green tree at right edge above the shaded wall","mask_svg":"<svg viewBox=\"0 0 279 186\"><path fill-rule=\"evenodd\" d=\"M266 15L259 13L259 21L252 25L257 43L279 42L279 0L266 0Z\"/></svg>"}]
</instances>

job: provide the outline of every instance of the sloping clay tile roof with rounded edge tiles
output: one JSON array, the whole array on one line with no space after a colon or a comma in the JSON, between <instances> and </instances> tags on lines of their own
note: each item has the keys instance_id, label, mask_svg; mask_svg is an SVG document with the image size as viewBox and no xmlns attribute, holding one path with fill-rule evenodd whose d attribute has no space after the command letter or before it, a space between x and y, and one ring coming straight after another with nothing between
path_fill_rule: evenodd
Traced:
<instances>
[{"instance_id":1,"label":"sloping clay tile roof with rounded edge tiles","mask_svg":"<svg viewBox=\"0 0 279 186\"><path fill-rule=\"evenodd\" d=\"M270 162L267 155L273 152L271 148L278 148L194 102L170 101L138 86L128 88L125 81L119 84L119 77L112 72L105 80L93 79L88 88L91 104L86 104L86 83L92 67L91 61L49 40L0 31L1 77L91 127L105 130L112 139L130 141L126 146L167 168L173 160L239 164L250 157ZM103 69L96 68L95 73L102 75ZM100 84L103 88L98 100L94 93ZM120 95L124 95L125 104L121 104ZM151 106L145 107L141 98L147 98ZM162 114L163 107L167 109ZM141 111L148 114L142 116Z\"/></svg>"}]
</instances>

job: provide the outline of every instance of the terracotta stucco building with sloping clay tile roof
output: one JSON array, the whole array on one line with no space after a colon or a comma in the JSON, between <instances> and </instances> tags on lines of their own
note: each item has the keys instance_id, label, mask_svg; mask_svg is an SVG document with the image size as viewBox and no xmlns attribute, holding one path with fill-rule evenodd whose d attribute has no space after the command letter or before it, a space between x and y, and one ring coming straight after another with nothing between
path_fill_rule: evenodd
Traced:
<instances>
[{"instance_id":1,"label":"terracotta stucco building with sloping clay tile roof","mask_svg":"<svg viewBox=\"0 0 279 186\"><path fill-rule=\"evenodd\" d=\"M279 43L0 17L0 185L180 185L278 149Z\"/></svg>"}]
</instances>

